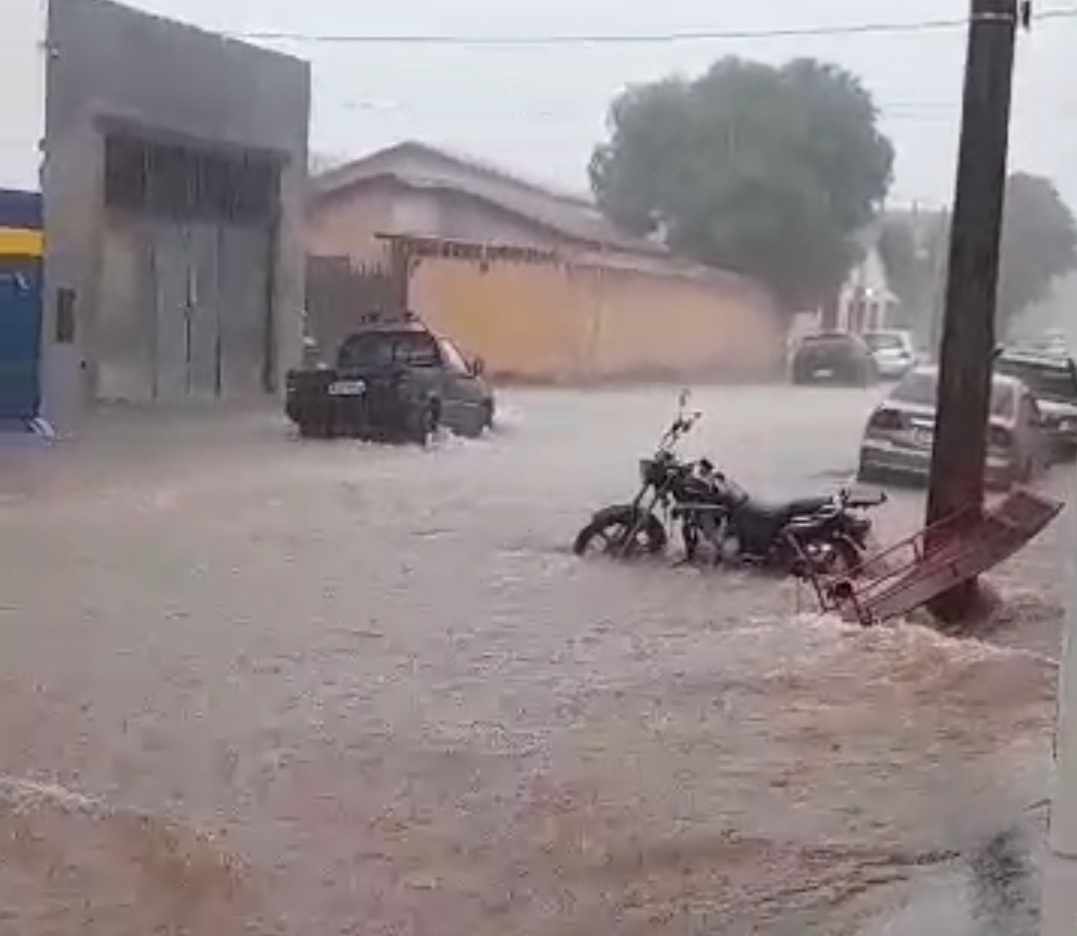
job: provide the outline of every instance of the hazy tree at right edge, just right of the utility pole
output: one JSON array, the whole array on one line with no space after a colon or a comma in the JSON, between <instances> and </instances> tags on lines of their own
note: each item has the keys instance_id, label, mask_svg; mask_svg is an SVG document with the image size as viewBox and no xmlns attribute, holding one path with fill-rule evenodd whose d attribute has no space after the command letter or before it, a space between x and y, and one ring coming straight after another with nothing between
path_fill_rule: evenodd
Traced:
<instances>
[{"instance_id":1,"label":"hazy tree at right edge, just right of the utility pole","mask_svg":"<svg viewBox=\"0 0 1077 936\"><path fill-rule=\"evenodd\" d=\"M1022 312L1050 295L1055 279L1075 268L1077 224L1058 190L1039 176L1010 176L998 270L999 337Z\"/></svg>"}]
</instances>

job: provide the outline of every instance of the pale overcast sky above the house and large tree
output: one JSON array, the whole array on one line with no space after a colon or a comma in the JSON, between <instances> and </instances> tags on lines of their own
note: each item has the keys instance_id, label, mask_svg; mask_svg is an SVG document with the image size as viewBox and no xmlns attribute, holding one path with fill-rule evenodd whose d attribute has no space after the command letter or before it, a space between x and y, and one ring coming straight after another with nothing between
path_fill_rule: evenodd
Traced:
<instances>
[{"instance_id":1,"label":"pale overcast sky above the house and large tree","mask_svg":"<svg viewBox=\"0 0 1077 936\"><path fill-rule=\"evenodd\" d=\"M134 0L132 5L223 31L365 34L595 34L759 30L961 18L968 0ZM1037 0L1039 11L1077 0ZM870 11L870 12L868 12ZM313 64L311 145L335 157L404 138L496 160L562 187L586 186L610 99L626 84L691 75L738 54L797 55L858 73L898 152L896 201L943 202L953 188L963 30L502 47L272 42ZM1011 167L1051 177L1077 207L1077 17L1022 36Z\"/></svg>"}]
</instances>

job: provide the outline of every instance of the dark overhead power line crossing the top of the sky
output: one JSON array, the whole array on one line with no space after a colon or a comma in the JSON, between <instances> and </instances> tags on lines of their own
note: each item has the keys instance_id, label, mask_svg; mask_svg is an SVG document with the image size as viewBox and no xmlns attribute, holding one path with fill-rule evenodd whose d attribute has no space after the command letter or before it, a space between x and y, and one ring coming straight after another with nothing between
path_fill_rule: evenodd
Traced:
<instances>
[{"instance_id":1,"label":"dark overhead power line crossing the top of the sky","mask_svg":"<svg viewBox=\"0 0 1077 936\"><path fill-rule=\"evenodd\" d=\"M1077 18L1077 6L1041 10L1034 22ZM813 37L880 36L966 29L968 17L919 19L906 23L847 23L833 26L794 26L774 29L686 30L653 33L595 33L548 36L481 34L362 34L305 33L286 31L232 32L236 39L264 42L363 45L463 45L463 46L565 46L565 45L653 45L681 42L746 41L760 39L809 39Z\"/></svg>"}]
</instances>

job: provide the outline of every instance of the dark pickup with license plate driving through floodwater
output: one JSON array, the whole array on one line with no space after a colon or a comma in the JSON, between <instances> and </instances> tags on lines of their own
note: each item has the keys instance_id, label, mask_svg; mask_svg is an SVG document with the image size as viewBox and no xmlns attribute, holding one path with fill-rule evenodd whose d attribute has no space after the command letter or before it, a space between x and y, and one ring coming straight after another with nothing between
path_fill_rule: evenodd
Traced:
<instances>
[{"instance_id":1,"label":"dark pickup with license plate driving through floodwater","mask_svg":"<svg viewBox=\"0 0 1077 936\"><path fill-rule=\"evenodd\" d=\"M349 336L335 367L288 375L285 411L305 437L425 444L443 427L477 436L492 425L493 408L482 362L414 317Z\"/></svg>"}]
</instances>

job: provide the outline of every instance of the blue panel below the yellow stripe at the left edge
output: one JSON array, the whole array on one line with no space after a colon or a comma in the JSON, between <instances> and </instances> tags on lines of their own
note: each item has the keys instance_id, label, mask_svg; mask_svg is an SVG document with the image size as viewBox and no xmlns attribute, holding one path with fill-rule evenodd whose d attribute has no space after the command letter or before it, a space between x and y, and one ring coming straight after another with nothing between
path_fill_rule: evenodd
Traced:
<instances>
[{"instance_id":1,"label":"blue panel below the yellow stripe at the left edge","mask_svg":"<svg viewBox=\"0 0 1077 936\"><path fill-rule=\"evenodd\" d=\"M0 419L38 415L41 280L0 268Z\"/></svg>"}]
</instances>

